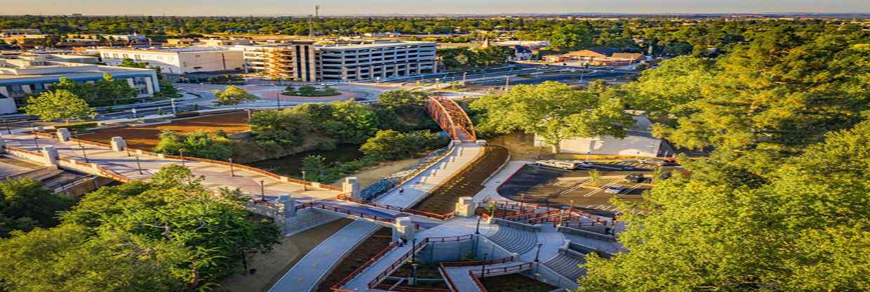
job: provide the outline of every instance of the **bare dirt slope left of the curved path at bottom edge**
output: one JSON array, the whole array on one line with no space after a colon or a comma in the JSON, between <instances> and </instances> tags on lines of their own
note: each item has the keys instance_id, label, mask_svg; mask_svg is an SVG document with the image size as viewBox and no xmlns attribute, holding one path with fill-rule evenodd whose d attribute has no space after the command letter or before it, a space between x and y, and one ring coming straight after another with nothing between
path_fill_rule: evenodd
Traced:
<instances>
[{"instance_id":1,"label":"bare dirt slope left of the curved path at bottom edge","mask_svg":"<svg viewBox=\"0 0 870 292\"><path fill-rule=\"evenodd\" d=\"M325 241L350 224L350 219L331 221L319 227L311 228L299 234L281 239L281 244L273 246L269 254L248 255L248 268L256 268L254 275L232 275L221 283L218 291L251 292L269 291L290 268L293 268L311 249Z\"/></svg>"}]
</instances>

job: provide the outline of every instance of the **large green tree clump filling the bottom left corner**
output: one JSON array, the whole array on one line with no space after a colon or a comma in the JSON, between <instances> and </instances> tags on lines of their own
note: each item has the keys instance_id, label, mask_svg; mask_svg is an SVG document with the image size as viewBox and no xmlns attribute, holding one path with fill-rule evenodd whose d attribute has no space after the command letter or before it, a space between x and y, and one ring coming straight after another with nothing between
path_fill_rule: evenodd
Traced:
<instances>
[{"instance_id":1,"label":"large green tree clump filling the bottom left corner","mask_svg":"<svg viewBox=\"0 0 870 292\"><path fill-rule=\"evenodd\" d=\"M182 291L240 272L244 252L264 252L278 227L256 221L238 192L212 194L183 166L151 182L87 194L53 228L0 241L7 291Z\"/></svg>"}]
</instances>

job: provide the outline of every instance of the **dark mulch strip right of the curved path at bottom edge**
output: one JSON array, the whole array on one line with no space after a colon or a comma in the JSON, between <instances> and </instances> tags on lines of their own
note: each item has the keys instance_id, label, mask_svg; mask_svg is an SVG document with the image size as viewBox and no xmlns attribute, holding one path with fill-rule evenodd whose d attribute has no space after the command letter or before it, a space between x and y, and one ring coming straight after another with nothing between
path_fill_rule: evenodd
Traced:
<instances>
[{"instance_id":1,"label":"dark mulch strip right of the curved path at bottom edge","mask_svg":"<svg viewBox=\"0 0 870 292\"><path fill-rule=\"evenodd\" d=\"M369 238L365 239L359 246L345 258L344 261L341 261L338 266L330 275L327 275L324 278L323 282L320 282L320 286L318 286L318 292L331 292L332 285L335 285L341 280L345 279L345 276L351 275L353 271L357 270L357 268L362 267L366 261L371 260L375 255L378 255L384 248L390 245L392 241L392 229L386 227L380 227L378 231L375 231L374 234L371 234Z\"/></svg>"}]
</instances>

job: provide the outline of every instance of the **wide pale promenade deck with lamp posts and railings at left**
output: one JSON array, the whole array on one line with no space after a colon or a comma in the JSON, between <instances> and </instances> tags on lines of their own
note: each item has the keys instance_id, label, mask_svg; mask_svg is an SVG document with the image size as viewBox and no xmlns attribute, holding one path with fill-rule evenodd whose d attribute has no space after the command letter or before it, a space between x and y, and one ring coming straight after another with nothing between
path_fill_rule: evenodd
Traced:
<instances>
[{"instance_id":1,"label":"wide pale promenade deck with lamp posts and railings at left","mask_svg":"<svg viewBox=\"0 0 870 292\"><path fill-rule=\"evenodd\" d=\"M76 142L60 142L57 139L38 138L33 139L32 134L13 133L3 134L7 146L15 146L28 151L42 151L43 146L55 146L57 153L62 158L77 160L82 164L87 161L121 174L132 180L149 180L151 175L157 173L163 166L182 164L181 160L161 159L157 156L140 155L137 160L136 154L116 152L104 146L84 146L82 148ZM109 142L109 141L106 141ZM37 148L37 144L39 148ZM131 153L133 153L131 151ZM44 161L38 161L43 163ZM139 172L141 166L142 172ZM238 187L242 193L251 195L256 199L264 197L266 200L276 200L280 194L291 194L296 200L318 200L335 197L339 192L329 190L306 190L302 186L282 182L260 173L235 168L231 175L229 166L186 160L184 166L191 169L197 177L202 177L204 187L218 189L220 187ZM261 187L260 181L263 181Z\"/></svg>"}]
</instances>

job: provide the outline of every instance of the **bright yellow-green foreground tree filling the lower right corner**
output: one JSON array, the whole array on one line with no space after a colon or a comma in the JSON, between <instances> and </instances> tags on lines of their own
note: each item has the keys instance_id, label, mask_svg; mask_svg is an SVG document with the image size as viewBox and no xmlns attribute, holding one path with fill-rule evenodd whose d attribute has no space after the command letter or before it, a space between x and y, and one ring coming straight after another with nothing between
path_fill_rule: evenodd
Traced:
<instances>
[{"instance_id":1,"label":"bright yellow-green foreground tree filling the lower right corner","mask_svg":"<svg viewBox=\"0 0 870 292\"><path fill-rule=\"evenodd\" d=\"M620 217L628 253L586 257L579 291L870 289L870 122L829 133L769 180L686 162L691 177L660 181L636 206L650 212Z\"/></svg>"}]
</instances>

